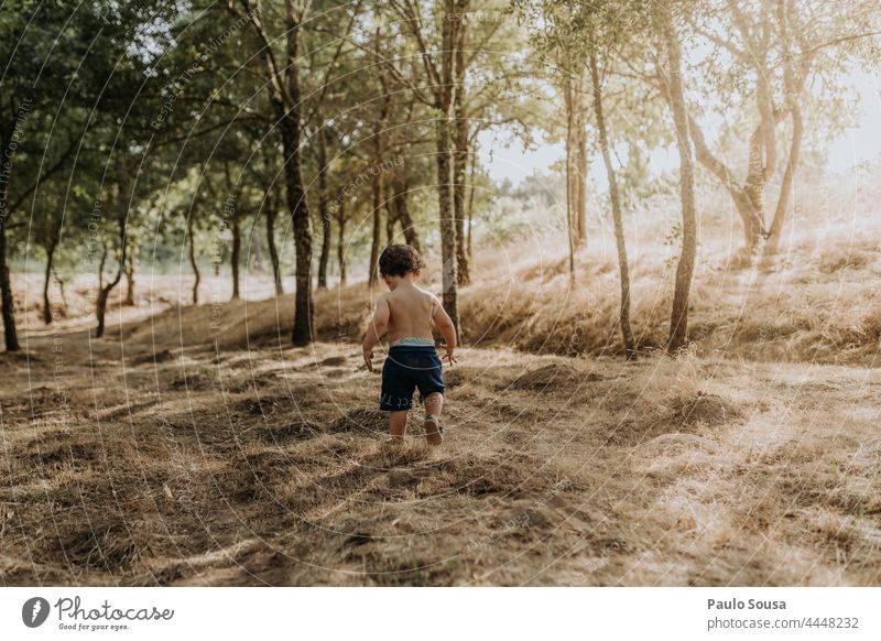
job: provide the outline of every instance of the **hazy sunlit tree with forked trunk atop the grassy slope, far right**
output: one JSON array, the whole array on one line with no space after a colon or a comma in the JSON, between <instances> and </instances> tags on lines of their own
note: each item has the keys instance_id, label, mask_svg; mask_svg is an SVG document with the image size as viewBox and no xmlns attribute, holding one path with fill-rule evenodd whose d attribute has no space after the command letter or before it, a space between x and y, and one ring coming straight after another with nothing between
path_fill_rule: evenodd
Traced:
<instances>
[{"instance_id":1,"label":"hazy sunlit tree with forked trunk atop the grassy slope, far right","mask_svg":"<svg viewBox=\"0 0 881 641\"><path fill-rule=\"evenodd\" d=\"M804 138L806 87L818 76L836 85L844 57L878 34L877 9L855 1L845 15L834 2L802 0L706 0L689 8L690 29L711 51L696 73L748 123L743 133L744 128L730 131L747 138L746 167L738 172L713 149L696 109L686 109L697 160L728 191L743 221L748 253L763 240L773 253L780 242ZM833 64L819 61L827 51L838 58ZM784 146L779 130L787 121ZM769 185L781 167L776 202L769 205Z\"/></svg>"}]
</instances>

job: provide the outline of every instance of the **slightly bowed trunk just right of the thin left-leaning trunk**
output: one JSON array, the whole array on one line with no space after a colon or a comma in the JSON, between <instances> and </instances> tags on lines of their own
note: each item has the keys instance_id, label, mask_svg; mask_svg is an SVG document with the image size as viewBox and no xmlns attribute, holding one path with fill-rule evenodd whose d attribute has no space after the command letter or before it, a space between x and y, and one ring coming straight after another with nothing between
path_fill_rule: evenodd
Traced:
<instances>
[{"instance_id":1,"label":"slightly bowed trunk just right of the thin left-leaning trunk","mask_svg":"<svg viewBox=\"0 0 881 641\"><path fill-rule=\"evenodd\" d=\"M673 19L666 9L657 12L667 50L670 66L670 104L676 128L676 149L679 153L679 192L682 196L682 254L676 267L676 286L673 293L673 312L670 319L667 351L675 354L688 340L688 295L697 251L697 222L694 187L692 142L688 134L688 116L682 84L682 51Z\"/></svg>"}]
</instances>

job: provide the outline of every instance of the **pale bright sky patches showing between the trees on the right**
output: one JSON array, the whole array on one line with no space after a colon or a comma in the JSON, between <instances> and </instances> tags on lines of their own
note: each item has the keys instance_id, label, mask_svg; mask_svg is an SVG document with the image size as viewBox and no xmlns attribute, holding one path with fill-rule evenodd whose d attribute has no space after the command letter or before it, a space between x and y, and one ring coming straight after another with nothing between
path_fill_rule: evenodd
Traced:
<instances>
[{"instance_id":1,"label":"pale bright sky patches showing between the trees on the right","mask_svg":"<svg viewBox=\"0 0 881 641\"><path fill-rule=\"evenodd\" d=\"M857 89L860 101L860 117L855 127L844 131L830 145L828 169L845 172L864 161L881 160L881 75L857 72L850 74L842 84ZM708 138L711 132L707 132ZM510 143L510 144L509 144ZM508 144L508 146L505 146ZM480 154L490 176L497 181L509 178L513 184L534 172L550 172L551 165L565 156L563 142L541 144L535 149L523 150L520 142L510 142L504 137L487 132L480 137ZM492 150L492 153L490 151ZM600 164L591 163L591 177L597 178ZM678 157L674 149L659 149L651 156L656 172L675 169Z\"/></svg>"}]
</instances>

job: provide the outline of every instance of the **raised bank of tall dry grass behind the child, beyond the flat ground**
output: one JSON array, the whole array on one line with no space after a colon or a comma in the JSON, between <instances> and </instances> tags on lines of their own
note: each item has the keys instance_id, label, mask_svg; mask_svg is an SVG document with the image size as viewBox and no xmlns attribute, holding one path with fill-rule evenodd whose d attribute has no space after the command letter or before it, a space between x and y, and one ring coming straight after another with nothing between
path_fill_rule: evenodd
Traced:
<instances>
[{"instance_id":1,"label":"raised bank of tall dry grass behind the child, beyond the flat ground","mask_svg":"<svg viewBox=\"0 0 881 641\"><path fill-rule=\"evenodd\" d=\"M781 251L761 269L744 267L736 251L741 240L735 215L701 219L689 312L689 336L697 355L765 362L875 365L881 346L881 297L878 289L867 283L881 276L881 211L867 193L859 194L864 198L859 211L839 203L837 209L808 216L804 208L812 198L835 203L822 184L814 189L818 193L801 193ZM675 213L673 204L662 205ZM714 203L714 207L721 205ZM859 228L855 217L859 217ZM663 348L667 336L676 243L661 239L670 218L642 211L635 216L638 225L631 225L631 317L643 354ZM590 237L577 257L575 281L568 275L564 247L563 239L550 236L476 256L472 273L477 282L461 289L459 303L470 345L562 356L622 355L611 230L600 226ZM425 279L436 289L438 260L433 254L428 258ZM263 291L265 283L249 279ZM149 323L111 329L127 344L140 348L156 340L195 347L209 340L225 348L284 348L289 343L293 320L290 295L214 305L215 293L206 291L203 300L208 303L180 306L176 301L188 295L186 283L170 276L142 280L140 305L117 305L109 320L119 324L144 318L151 311L161 313ZM209 290L211 286L206 284ZM317 292L318 338L359 340L381 287L371 291L359 283ZM29 323L39 327L34 319Z\"/></svg>"}]
</instances>

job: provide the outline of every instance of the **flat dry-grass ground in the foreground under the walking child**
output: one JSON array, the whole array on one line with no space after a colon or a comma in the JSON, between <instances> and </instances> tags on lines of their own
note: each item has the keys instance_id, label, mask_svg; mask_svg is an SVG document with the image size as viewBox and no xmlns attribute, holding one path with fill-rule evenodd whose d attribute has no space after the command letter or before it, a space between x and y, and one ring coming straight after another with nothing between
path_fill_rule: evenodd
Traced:
<instances>
[{"instance_id":1,"label":"flat dry-grass ground in the foreground under the walking child","mask_svg":"<svg viewBox=\"0 0 881 641\"><path fill-rule=\"evenodd\" d=\"M4 585L881 580L879 370L465 350L432 457L351 346L126 335L0 355Z\"/></svg>"}]
</instances>

